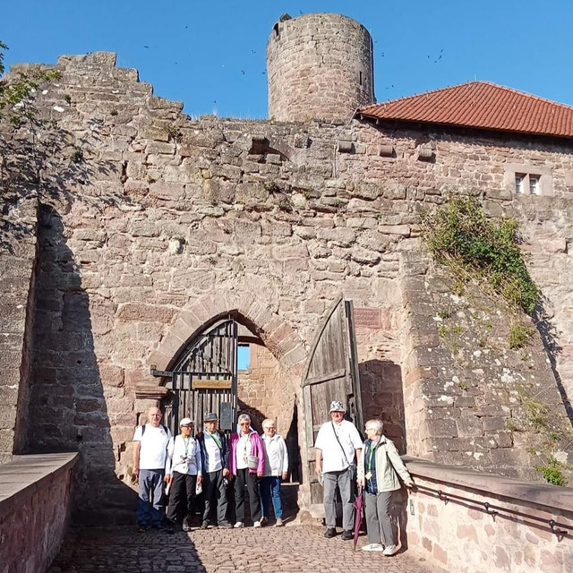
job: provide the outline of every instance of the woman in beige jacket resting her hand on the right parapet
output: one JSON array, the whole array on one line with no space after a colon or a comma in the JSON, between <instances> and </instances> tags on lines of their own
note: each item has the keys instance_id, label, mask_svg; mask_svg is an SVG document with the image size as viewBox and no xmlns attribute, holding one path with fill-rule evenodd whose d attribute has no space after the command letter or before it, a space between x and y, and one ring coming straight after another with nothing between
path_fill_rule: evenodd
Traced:
<instances>
[{"instance_id":1,"label":"woman in beige jacket resting her hand on the right parapet","mask_svg":"<svg viewBox=\"0 0 573 573\"><path fill-rule=\"evenodd\" d=\"M382 435L383 427L381 420L366 422L364 430L367 440L358 460L358 485L364 488L369 541L362 549L389 556L398 552L389 517L393 493L401 487L398 475L406 487L412 487L414 481L392 440Z\"/></svg>"}]
</instances>

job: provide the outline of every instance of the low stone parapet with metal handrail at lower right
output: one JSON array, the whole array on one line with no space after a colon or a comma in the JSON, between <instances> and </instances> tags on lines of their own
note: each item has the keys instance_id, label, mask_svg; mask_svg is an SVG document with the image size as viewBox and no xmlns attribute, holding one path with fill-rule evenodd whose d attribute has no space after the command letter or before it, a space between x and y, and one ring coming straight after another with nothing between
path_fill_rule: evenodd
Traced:
<instances>
[{"instance_id":1,"label":"low stone parapet with metal handrail at lower right","mask_svg":"<svg viewBox=\"0 0 573 573\"><path fill-rule=\"evenodd\" d=\"M409 552L459 573L569 573L573 569L573 491L569 488L421 460L406 459L406 465L417 486L401 517ZM558 535L558 530L564 535Z\"/></svg>"}]
</instances>

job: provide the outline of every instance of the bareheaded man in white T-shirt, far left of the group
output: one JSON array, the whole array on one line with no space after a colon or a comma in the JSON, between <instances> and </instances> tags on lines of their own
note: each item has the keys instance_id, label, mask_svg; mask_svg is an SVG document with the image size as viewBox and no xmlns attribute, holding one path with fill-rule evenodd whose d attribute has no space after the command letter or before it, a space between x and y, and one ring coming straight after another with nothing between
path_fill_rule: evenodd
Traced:
<instances>
[{"instance_id":1,"label":"bareheaded man in white T-shirt, far left of the group","mask_svg":"<svg viewBox=\"0 0 573 573\"><path fill-rule=\"evenodd\" d=\"M161 410L151 407L148 423L138 426L133 435L133 477L139 478L137 522L140 532L149 526L158 529L163 522L163 480L167 442L171 432L161 423Z\"/></svg>"}]
</instances>

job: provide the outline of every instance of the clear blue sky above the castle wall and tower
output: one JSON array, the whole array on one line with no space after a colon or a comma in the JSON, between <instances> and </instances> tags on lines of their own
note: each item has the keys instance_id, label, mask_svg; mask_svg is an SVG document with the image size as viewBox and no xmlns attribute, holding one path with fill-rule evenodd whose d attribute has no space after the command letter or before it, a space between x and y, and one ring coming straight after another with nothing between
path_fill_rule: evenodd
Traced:
<instances>
[{"instance_id":1,"label":"clear blue sky above the castle wall and tower","mask_svg":"<svg viewBox=\"0 0 573 573\"><path fill-rule=\"evenodd\" d=\"M190 115L264 118L272 25L311 12L370 30L378 101L478 79L573 105L570 0L4 0L0 40L7 65L114 51Z\"/></svg>"}]
</instances>

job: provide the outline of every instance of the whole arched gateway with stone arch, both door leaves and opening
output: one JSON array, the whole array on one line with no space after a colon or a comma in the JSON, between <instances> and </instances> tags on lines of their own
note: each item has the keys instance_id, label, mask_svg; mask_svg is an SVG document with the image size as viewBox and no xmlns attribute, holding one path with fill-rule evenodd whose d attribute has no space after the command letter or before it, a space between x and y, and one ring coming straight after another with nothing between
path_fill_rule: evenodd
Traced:
<instances>
[{"instance_id":1,"label":"whole arched gateway with stone arch, both door leaves and opening","mask_svg":"<svg viewBox=\"0 0 573 573\"><path fill-rule=\"evenodd\" d=\"M227 348L218 340L218 329L223 328L225 321L236 324L233 334L227 333L224 337L232 336L233 352L229 356L233 360L210 358L204 363L235 364L235 369L227 367L225 372L210 372L201 366L202 370L194 372L195 355L211 356L213 348L217 356L217 352ZM352 301L340 295L323 316L313 338L309 352L295 330L268 306L251 295L222 293L187 307L150 356L152 374L162 378L170 390L161 401L172 430L178 430L178 420L184 415L192 417L196 426L201 427L203 415L217 411L217 407L221 408L219 416L228 413L221 423L227 426L227 431L234 429L236 415L242 409L252 415L255 424L264 417L275 419L278 431L292 452L290 475L301 483L297 497L299 507L304 509L303 517L306 514L323 516L321 484L314 472L313 444L321 423L329 419L329 400L342 400L349 418L359 427L362 425ZM266 369L261 367L256 383L252 380L254 372L239 372L236 365L239 346L247 344L249 356L256 350L256 363L264 364ZM174 371L174 368L180 370ZM198 379L195 388L193 372ZM223 380L219 380L220 377ZM177 380L186 387L177 385ZM191 392L184 397L187 401L182 398L184 391ZM224 395L229 391L235 392L235 401ZM200 398L193 399L192 392ZM201 398L201 395L204 396Z\"/></svg>"}]
</instances>

